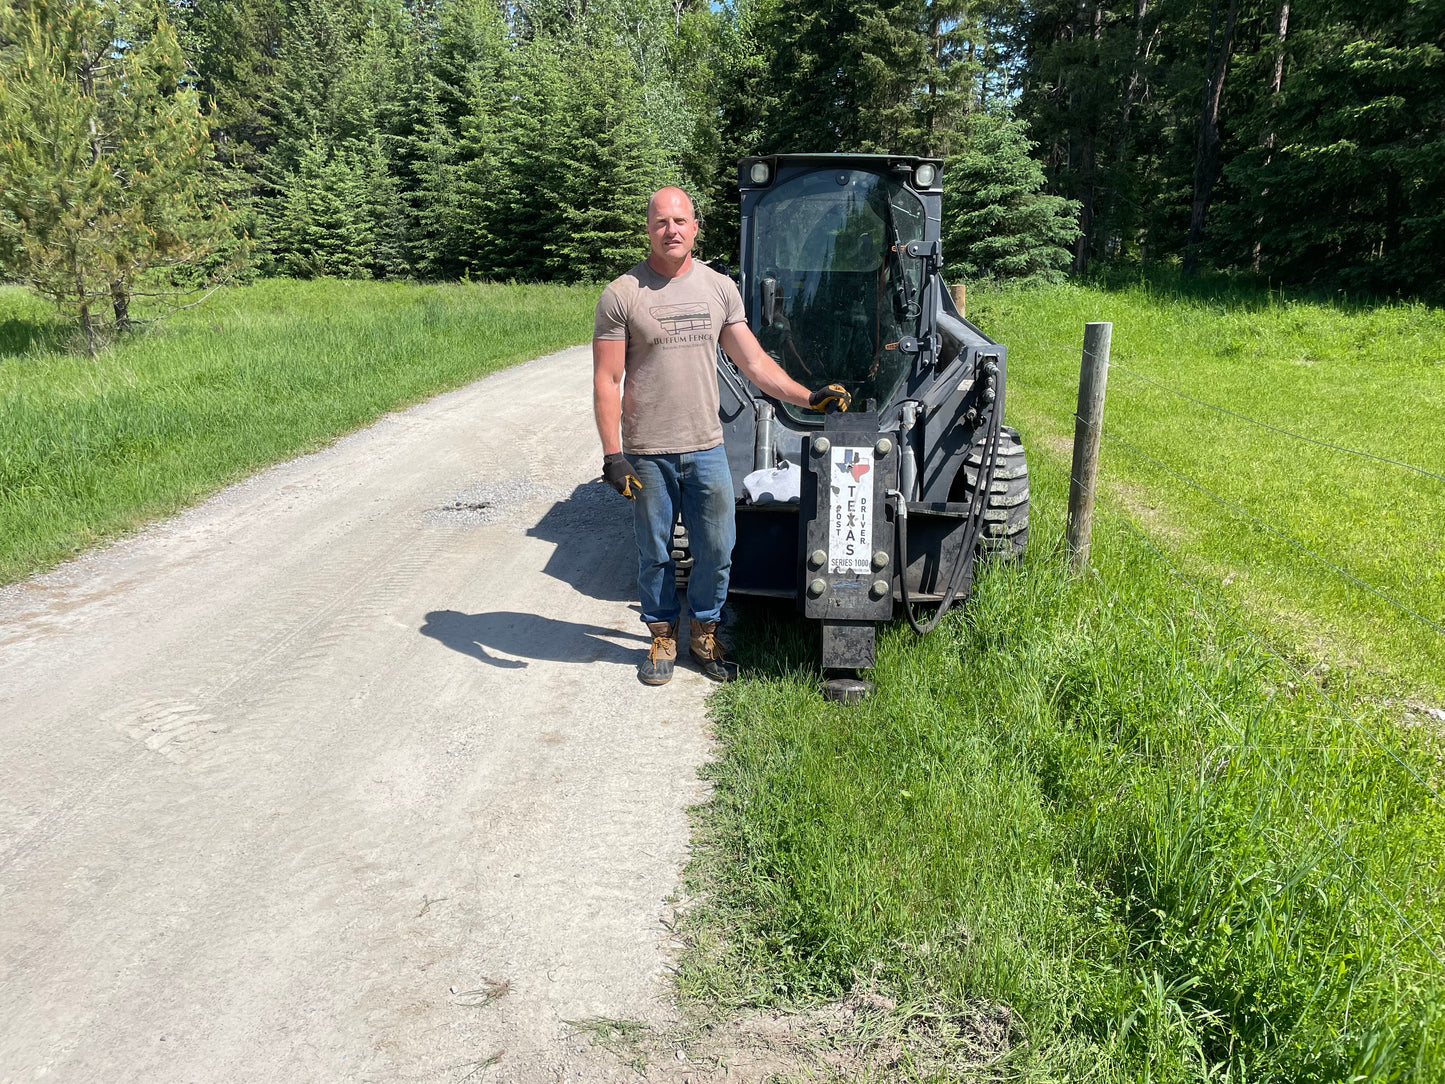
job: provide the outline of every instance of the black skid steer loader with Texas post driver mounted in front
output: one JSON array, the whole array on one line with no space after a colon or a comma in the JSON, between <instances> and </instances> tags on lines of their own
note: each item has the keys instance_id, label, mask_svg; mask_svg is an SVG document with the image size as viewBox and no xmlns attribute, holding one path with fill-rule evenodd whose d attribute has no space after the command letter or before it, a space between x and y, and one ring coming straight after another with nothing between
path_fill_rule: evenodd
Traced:
<instances>
[{"instance_id":1,"label":"black skid steer loader with Texas post driver mounted in front","mask_svg":"<svg viewBox=\"0 0 1445 1084\"><path fill-rule=\"evenodd\" d=\"M1001 425L1006 348L944 282L942 162L770 155L738 163L738 286L767 353L853 409L769 399L720 351L737 499L731 593L796 600L822 624L824 692L857 700L877 621L926 633L968 595L975 556L1022 554L1023 447ZM685 575L686 532L673 556ZM920 604L936 608L925 620Z\"/></svg>"}]
</instances>

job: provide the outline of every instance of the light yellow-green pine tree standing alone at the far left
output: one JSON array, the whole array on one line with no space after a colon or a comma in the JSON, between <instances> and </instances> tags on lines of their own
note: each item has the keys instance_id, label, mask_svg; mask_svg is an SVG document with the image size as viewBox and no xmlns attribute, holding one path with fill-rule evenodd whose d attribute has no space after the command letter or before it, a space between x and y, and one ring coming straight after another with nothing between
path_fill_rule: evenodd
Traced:
<instances>
[{"instance_id":1,"label":"light yellow-green pine tree standing alone at the far left","mask_svg":"<svg viewBox=\"0 0 1445 1084\"><path fill-rule=\"evenodd\" d=\"M130 328L137 291L175 298L244 247L163 12L38 0L0 20L0 249L94 354L107 330Z\"/></svg>"}]
</instances>

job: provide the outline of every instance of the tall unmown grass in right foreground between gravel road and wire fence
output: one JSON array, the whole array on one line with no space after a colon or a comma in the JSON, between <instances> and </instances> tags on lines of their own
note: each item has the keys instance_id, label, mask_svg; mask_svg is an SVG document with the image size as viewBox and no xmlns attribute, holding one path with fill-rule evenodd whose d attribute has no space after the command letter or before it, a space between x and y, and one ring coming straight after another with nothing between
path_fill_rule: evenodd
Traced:
<instances>
[{"instance_id":1,"label":"tall unmown grass in right foreground between gravel road and wire fence","mask_svg":"<svg viewBox=\"0 0 1445 1084\"><path fill-rule=\"evenodd\" d=\"M1113 512L1072 577L1065 477L1035 470L1022 564L881 633L861 705L744 611L683 987L1003 1003L1009 1078L1445 1077L1438 739L1367 737L1379 708L1322 702Z\"/></svg>"}]
</instances>

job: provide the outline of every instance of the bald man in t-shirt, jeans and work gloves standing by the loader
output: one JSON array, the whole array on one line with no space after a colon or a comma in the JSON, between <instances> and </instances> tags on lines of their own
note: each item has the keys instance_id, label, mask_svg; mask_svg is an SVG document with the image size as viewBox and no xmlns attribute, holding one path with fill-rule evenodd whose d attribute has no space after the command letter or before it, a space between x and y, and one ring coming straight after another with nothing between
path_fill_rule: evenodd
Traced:
<instances>
[{"instance_id":1,"label":"bald man in t-shirt, jeans and work gloves standing by the loader","mask_svg":"<svg viewBox=\"0 0 1445 1084\"><path fill-rule=\"evenodd\" d=\"M809 392L767 356L747 327L737 285L692 259L696 236L688 194L655 192L647 201L647 259L603 291L592 325L603 477L633 500L637 593L652 633L637 676L647 685L672 678L678 658L681 606L670 551L679 512L692 546L689 652L712 681L736 674L717 637L734 539L714 370L718 344L775 399L815 410L845 410L850 402L838 384Z\"/></svg>"}]
</instances>

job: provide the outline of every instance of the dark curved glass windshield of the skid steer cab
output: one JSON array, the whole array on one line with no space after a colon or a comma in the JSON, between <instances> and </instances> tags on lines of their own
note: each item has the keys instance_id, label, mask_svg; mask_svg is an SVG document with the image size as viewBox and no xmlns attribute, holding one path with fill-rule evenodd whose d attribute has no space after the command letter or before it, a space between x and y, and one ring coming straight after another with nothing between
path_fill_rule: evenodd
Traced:
<instances>
[{"instance_id":1,"label":"dark curved glass windshield of the skid steer cab","mask_svg":"<svg viewBox=\"0 0 1445 1084\"><path fill-rule=\"evenodd\" d=\"M900 247L923 238L923 204L897 181L827 169L785 181L753 217L753 330L798 383L840 383L861 409L892 399L918 337L922 266ZM816 415L799 413L801 421Z\"/></svg>"}]
</instances>

